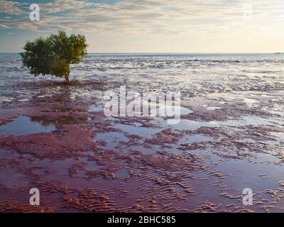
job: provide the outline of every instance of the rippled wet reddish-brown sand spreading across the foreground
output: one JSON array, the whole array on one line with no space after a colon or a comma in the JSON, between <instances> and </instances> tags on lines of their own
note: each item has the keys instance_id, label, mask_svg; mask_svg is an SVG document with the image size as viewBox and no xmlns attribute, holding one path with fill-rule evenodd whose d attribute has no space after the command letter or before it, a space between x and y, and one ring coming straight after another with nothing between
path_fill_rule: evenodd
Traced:
<instances>
[{"instance_id":1,"label":"rippled wet reddish-brown sand spreading across the foreground","mask_svg":"<svg viewBox=\"0 0 284 227\"><path fill-rule=\"evenodd\" d=\"M195 111L184 118L226 121L249 114L273 119L261 108L249 109L238 101L231 101L224 109L207 111L197 105L196 99L200 100L198 104L213 104L214 100L195 97L183 101ZM283 104L284 98L281 100ZM270 103L264 100L263 106L266 105ZM143 138L114 128L114 120L104 118L102 112L88 113L88 106L87 101L56 94L1 109L0 124L17 116L30 116L35 122L56 126L52 133L0 137L1 212L283 211L284 188L277 180L283 175L273 178L275 170L269 169L271 172L265 175L271 181L266 183L266 178L246 170L246 165L257 167L256 171L267 167L258 160L261 153L277 158L266 162L284 172L283 149L260 143L273 139L273 132L283 133L283 127L201 127L196 131L164 128L151 138ZM116 119L116 123L128 125L137 121L144 127L154 126L148 118ZM107 141L94 139L104 132L123 133L128 141L104 149ZM182 136L197 134L214 140L178 145ZM257 143L238 141L244 138ZM135 145L150 149L153 154L132 148ZM171 149L180 152L173 153ZM234 167L231 170L226 163L231 163L229 167L244 167L244 172ZM248 187L253 185L256 189L253 206L242 204L241 190L247 184L239 179L251 182ZM256 187L258 184L261 187ZM28 204L28 192L33 187L40 190L40 206Z\"/></svg>"}]
</instances>

